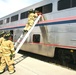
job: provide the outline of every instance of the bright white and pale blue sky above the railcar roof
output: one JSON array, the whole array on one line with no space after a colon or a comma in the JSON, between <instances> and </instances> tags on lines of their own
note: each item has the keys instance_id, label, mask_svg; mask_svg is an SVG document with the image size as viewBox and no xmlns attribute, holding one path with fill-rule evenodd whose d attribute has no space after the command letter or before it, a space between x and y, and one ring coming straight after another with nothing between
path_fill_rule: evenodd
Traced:
<instances>
[{"instance_id":1,"label":"bright white and pale blue sky above the railcar roof","mask_svg":"<svg viewBox=\"0 0 76 75\"><path fill-rule=\"evenodd\" d=\"M0 18L42 0L0 0Z\"/></svg>"}]
</instances>

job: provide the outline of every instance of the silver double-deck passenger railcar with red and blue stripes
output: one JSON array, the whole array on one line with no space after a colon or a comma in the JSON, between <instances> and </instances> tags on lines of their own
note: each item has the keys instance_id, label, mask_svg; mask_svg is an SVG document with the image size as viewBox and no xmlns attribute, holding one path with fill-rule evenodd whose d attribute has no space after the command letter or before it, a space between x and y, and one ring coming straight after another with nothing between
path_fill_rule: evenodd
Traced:
<instances>
[{"instance_id":1,"label":"silver double-deck passenger railcar with red and blue stripes","mask_svg":"<svg viewBox=\"0 0 76 75\"><path fill-rule=\"evenodd\" d=\"M76 0L43 0L0 18L0 30L10 31L14 42L30 9L42 12L46 20L35 26L21 50L76 63Z\"/></svg>"}]
</instances>

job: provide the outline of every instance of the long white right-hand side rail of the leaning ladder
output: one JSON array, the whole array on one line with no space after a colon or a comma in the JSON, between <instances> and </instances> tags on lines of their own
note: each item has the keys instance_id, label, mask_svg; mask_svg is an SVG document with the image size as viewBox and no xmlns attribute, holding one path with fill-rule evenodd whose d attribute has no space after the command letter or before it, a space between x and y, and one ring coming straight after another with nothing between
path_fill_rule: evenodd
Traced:
<instances>
[{"instance_id":1,"label":"long white right-hand side rail of the leaning ladder","mask_svg":"<svg viewBox=\"0 0 76 75\"><path fill-rule=\"evenodd\" d=\"M22 40L21 43L18 45L15 53L18 53L19 49L21 48L21 46L23 45L23 43L25 42L25 40L27 39L27 37L29 36L29 34L31 33L31 31L33 30L34 26L35 26L35 25L37 24L37 22L39 21L40 17L41 17L41 15L39 15L39 16L37 17L37 19L35 20L32 28L26 33L26 35L24 36L23 40Z\"/></svg>"}]
</instances>

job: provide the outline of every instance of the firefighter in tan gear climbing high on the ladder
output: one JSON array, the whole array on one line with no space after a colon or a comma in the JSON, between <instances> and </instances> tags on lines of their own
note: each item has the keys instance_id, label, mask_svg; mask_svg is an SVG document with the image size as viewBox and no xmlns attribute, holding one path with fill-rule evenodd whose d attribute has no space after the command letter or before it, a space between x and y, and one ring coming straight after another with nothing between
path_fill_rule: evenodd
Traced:
<instances>
[{"instance_id":1,"label":"firefighter in tan gear climbing high on the ladder","mask_svg":"<svg viewBox=\"0 0 76 75\"><path fill-rule=\"evenodd\" d=\"M26 24L26 27L24 28L24 32L28 32L30 30L30 28L32 27L32 25L34 24L35 19L37 18L37 14L34 13L34 11L31 9L29 11L29 15L28 15L28 22Z\"/></svg>"}]
</instances>

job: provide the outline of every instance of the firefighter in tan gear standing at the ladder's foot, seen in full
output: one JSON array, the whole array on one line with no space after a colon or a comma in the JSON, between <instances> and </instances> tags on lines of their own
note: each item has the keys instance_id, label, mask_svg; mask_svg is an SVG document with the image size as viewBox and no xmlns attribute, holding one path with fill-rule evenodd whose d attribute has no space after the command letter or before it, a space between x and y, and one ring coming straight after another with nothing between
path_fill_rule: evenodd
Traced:
<instances>
[{"instance_id":1,"label":"firefighter in tan gear standing at the ladder's foot, seen in full","mask_svg":"<svg viewBox=\"0 0 76 75\"><path fill-rule=\"evenodd\" d=\"M14 45L11 40L9 40L11 37L10 33L6 33L4 36L5 40L2 42L2 57L1 57L1 65L0 65L0 74L5 71L5 68L8 68L8 71L10 74L14 73L14 59L15 56L15 50Z\"/></svg>"}]
</instances>

